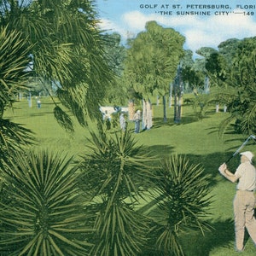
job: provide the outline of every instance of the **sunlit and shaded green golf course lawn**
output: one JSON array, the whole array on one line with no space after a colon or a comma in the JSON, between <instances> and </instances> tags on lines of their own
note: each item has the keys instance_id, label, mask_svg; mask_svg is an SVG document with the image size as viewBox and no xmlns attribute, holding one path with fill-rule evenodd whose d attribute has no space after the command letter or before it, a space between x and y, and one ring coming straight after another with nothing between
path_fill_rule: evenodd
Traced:
<instances>
[{"instance_id":1,"label":"sunlit and shaded green golf course lawn","mask_svg":"<svg viewBox=\"0 0 256 256\"><path fill-rule=\"evenodd\" d=\"M42 108L38 109L35 101L32 108L28 102L15 103L14 111L8 110L5 118L13 119L16 123L24 124L31 129L37 139L35 148L49 148L74 156L86 151L89 129L82 128L74 120L75 133L73 135L64 131L55 121L52 113L54 104L49 98L42 99ZM189 232L183 236L183 247L186 256L232 256L234 251L234 228L232 201L235 195L235 184L226 181L218 174L218 166L227 160L247 137L227 132L223 138L218 137L218 125L229 113L215 113L214 108L206 114L204 119L198 119L194 109L185 105L183 107L182 123L173 123L173 108L167 109L167 123L163 123L162 106L153 106L154 126L149 131L143 131L134 136L138 144L143 144L151 154L166 157L169 154L184 154L191 163L201 164L206 173L212 175L212 207L210 221L214 230L201 236L198 232ZM134 124L129 122L128 128L133 129ZM248 143L244 148L256 152L255 143ZM239 158L230 160L230 169L235 171ZM243 255L255 255L256 248L248 239Z\"/></svg>"}]
</instances>

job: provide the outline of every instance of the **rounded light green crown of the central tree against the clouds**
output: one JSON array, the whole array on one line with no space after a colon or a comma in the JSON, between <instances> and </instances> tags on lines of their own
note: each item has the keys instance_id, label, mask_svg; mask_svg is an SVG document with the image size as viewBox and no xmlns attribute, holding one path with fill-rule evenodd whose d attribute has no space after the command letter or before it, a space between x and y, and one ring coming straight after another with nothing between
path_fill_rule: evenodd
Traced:
<instances>
[{"instance_id":1,"label":"rounded light green crown of the central tree against the clouds","mask_svg":"<svg viewBox=\"0 0 256 256\"><path fill-rule=\"evenodd\" d=\"M148 21L146 31L131 41L125 76L144 99L166 96L183 56L184 38L172 28Z\"/></svg>"}]
</instances>

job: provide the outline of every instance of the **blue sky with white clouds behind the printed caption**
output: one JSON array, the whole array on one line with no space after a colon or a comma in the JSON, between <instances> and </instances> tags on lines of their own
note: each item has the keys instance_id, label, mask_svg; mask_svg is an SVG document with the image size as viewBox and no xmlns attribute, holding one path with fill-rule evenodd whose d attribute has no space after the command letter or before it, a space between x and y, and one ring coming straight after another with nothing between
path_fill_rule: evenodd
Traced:
<instances>
[{"instance_id":1,"label":"blue sky with white clouds behind the printed caption","mask_svg":"<svg viewBox=\"0 0 256 256\"><path fill-rule=\"evenodd\" d=\"M256 36L255 0L96 0L101 28L123 41L145 30L149 20L172 27L185 38L185 49L217 49L230 38ZM125 43L124 43L125 44Z\"/></svg>"}]
</instances>

